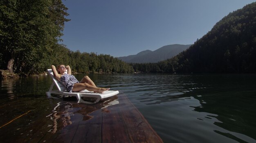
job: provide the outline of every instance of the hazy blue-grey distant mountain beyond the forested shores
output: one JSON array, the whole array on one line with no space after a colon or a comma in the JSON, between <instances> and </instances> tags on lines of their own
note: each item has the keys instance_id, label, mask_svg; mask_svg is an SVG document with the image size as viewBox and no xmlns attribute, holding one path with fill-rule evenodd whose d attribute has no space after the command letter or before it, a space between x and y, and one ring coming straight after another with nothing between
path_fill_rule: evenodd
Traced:
<instances>
[{"instance_id":1,"label":"hazy blue-grey distant mountain beyond the forested shores","mask_svg":"<svg viewBox=\"0 0 256 143\"><path fill-rule=\"evenodd\" d=\"M145 50L139 52L136 55L122 56L118 57L118 59L126 63L157 63L159 61L163 61L168 58L172 58L173 56L176 56L180 52L189 48L189 46L190 45L180 44L165 45L155 51Z\"/></svg>"}]
</instances>

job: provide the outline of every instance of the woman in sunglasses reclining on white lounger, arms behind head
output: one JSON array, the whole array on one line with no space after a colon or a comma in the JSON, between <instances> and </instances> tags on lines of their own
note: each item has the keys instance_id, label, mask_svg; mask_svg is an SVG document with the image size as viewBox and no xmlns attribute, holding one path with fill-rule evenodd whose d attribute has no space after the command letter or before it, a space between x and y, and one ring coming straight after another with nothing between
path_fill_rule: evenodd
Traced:
<instances>
[{"instance_id":1,"label":"woman in sunglasses reclining on white lounger, arms behind head","mask_svg":"<svg viewBox=\"0 0 256 143\"><path fill-rule=\"evenodd\" d=\"M65 73L66 69L67 74ZM84 89L87 89L88 91L103 93L104 91L109 90L109 88L106 89L96 87L94 82L88 76L84 76L83 79L79 82L72 75L69 65L58 65L57 68L54 65L52 65L52 72L54 77L67 88L67 92L79 92Z\"/></svg>"}]
</instances>

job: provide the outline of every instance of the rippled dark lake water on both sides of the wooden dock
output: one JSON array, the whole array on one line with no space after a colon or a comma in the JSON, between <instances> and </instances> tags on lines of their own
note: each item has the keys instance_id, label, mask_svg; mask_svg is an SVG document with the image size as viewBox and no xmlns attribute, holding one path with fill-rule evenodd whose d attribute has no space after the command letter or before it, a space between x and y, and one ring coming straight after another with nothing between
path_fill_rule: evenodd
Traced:
<instances>
[{"instance_id":1,"label":"rippled dark lake water on both sides of the wooden dock","mask_svg":"<svg viewBox=\"0 0 256 143\"><path fill-rule=\"evenodd\" d=\"M75 76L81 79L84 75ZM256 143L255 74L88 76L99 87L124 93L165 143ZM53 132L54 107L69 105L67 101L46 98L45 91L51 84L49 76L0 82L1 143L33 142L31 134L39 137ZM69 126L68 121L62 122ZM40 124L49 126L36 131Z\"/></svg>"}]
</instances>

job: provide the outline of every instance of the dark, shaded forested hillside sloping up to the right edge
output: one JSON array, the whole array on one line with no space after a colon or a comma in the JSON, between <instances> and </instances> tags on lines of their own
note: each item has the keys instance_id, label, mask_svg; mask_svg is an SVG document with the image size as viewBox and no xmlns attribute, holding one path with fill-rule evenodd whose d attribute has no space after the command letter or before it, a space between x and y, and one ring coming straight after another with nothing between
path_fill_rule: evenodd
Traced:
<instances>
[{"instance_id":1,"label":"dark, shaded forested hillside sloping up to the right edge","mask_svg":"<svg viewBox=\"0 0 256 143\"><path fill-rule=\"evenodd\" d=\"M229 13L175 57L130 65L135 72L256 73L256 2Z\"/></svg>"}]
</instances>

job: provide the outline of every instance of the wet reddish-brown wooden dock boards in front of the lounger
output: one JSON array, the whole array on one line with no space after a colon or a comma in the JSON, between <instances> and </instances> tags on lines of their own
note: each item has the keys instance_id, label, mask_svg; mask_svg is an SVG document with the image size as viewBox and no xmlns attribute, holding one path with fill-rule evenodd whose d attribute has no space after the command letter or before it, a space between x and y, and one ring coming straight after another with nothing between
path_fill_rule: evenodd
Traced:
<instances>
[{"instance_id":1,"label":"wet reddish-brown wooden dock boards in front of the lounger","mask_svg":"<svg viewBox=\"0 0 256 143\"><path fill-rule=\"evenodd\" d=\"M119 104L106 108L103 103L73 104L73 108L79 106L79 110L71 117L72 124L58 129L54 134L45 134L40 141L54 143L163 142L126 95L119 94L112 97L112 100L118 100Z\"/></svg>"}]
</instances>

